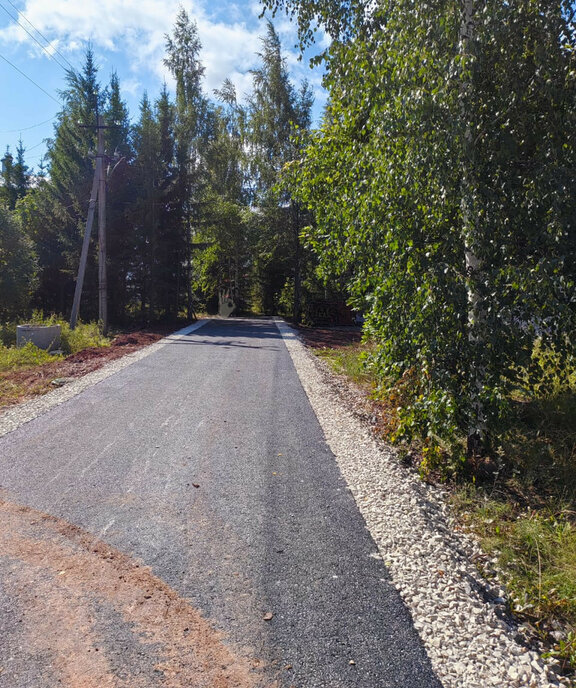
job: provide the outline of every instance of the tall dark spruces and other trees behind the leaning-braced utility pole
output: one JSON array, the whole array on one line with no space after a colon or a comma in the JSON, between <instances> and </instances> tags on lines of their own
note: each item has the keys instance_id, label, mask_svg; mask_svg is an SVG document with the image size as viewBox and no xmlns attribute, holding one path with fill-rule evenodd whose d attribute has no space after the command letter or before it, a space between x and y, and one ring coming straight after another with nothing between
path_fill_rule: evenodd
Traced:
<instances>
[{"instance_id":1,"label":"tall dark spruces and other trees behind the leaning-braced utility pole","mask_svg":"<svg viewBox=\"0 0 576 688\"><path fill-rule=\"evenodd\" d=\"M0 317L32 308L70 313L99 115L107 126L112 323L190 318L198 308L217 309L224 297L240 309L294 309L293 285L301 284L305 264L301 213L279 179L298 156L297 132L310 125L310 92L288 78L272 24L245 103L229 81L211 96L204 92L200 50L196 24L182 10L166 37L174 98L166 87L156 98L144 94L134 124L117 76L103 86L88 50L82 70L67 74L46 169L32 174L21 144L15 156L6 152ZM96 234L80 311L85 320L98 318Z\"/></svg>"}]
</instances>

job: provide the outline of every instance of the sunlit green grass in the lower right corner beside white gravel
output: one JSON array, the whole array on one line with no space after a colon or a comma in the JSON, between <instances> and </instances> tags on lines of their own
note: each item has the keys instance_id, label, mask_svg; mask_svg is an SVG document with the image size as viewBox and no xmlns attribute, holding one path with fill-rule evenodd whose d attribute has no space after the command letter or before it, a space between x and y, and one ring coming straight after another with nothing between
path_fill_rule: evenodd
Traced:
<instances>
[{"instance_id":1,"label":"sunlit green grass in the lower right corner beside white gravel","mask_svg":"<svg viewBox=\"0 0 576 688\"><path fill-rule=\"evenodd\" d=\"M459 519L484 551L498 559L510 609L550 648L562 669L576 669L576 515L571 505L549 501L526 508L495 489L454 491Z\"/></svg>"}]
</instances>

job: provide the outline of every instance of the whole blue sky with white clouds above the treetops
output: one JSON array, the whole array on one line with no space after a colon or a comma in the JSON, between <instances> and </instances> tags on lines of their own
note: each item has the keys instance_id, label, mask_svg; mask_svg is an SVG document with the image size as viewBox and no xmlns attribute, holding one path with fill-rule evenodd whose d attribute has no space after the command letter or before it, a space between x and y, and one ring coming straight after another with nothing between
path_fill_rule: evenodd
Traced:
<instances>
[{"instance_id":1,"label":"whole blue sky with white clouds above the treetops","mask_svg":"<svg viewBox=\"0 0 576 688\"><path fill-rule=\"evenodd\" d=\"M89 42L102 83L117 72L130 115L136 119L145 90L154 98L164 80L169 88L172 85L162 64L164 36L180 6L198 25L206 93L220 87L226 77L236 84L239 95L248 92L249 70L256 66L260 48L258 37L265 31L264 20L258 18L258 0L0 0L0 154L7 145L14 152L21 136L26 162L31 167L38 164L45 150L43 141L52 135L60 109L63 67L67 63L81 67ZM278 16L274 25L293 80L307 78L316 93L318 118L325 102L320 73L310 70L307 60L298 61L294 25L284 16Z\"/></svg>"}]
</instances>

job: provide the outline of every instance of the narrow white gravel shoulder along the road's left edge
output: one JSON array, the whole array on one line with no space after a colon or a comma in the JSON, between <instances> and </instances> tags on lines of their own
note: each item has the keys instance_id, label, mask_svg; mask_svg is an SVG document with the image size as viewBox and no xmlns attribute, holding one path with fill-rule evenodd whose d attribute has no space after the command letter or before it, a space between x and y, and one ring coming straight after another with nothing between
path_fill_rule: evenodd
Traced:
<instances>
[{"instance_id":1,"label":"narrow white gravel shoulder along the road's left edge","mask_svg":"<svg viewBox=\"0 0 576 688\"><path fill-rule=\"evenodd\" d=\"M202 327L202 325L204 325L206 322L208 322L206 319L198 320L193 325L184 327L183 329L178 330L178 332L174 332L168 337L164 337L160 341L154 342L154 344L150 344L142 349L138 349L138 351L127 354L122 358L117 358L114 361L110 361L110 363L102 366L102 368L94 370L92 373L88 373L83 377L79 377L72 382L67 383L63 387L59 387L52 392L48 392L43 396L37 397L36 399L31 399L30 401L25 401L21 404L17 404L16 406L11 406L5 411L0 412L0 437L12 432L13 430L16 430L21 425L24 425L24 423L34 420L34 418L42 413L45 413L54 406L63 404L65 401L68 401L68 399L75 397L88 387L105 380L107 377L110 377L110 375L114 375L114 373L117 373L119 370L132 365L132 363L135 363L136 361L140 361L155 351L158 351L162 347L166 346L166 344L181 339L191 332L194 332L198 328Z\"/></svg>"}]
</instances>

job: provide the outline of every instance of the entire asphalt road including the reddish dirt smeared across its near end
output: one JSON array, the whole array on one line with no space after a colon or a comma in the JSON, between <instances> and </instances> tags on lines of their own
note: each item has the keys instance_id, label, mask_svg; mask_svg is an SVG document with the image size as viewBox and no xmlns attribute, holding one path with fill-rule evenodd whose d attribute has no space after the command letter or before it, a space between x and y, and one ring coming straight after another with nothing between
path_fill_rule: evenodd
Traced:
<instances>
[{"instance_id":1,"label":"entire asphalt road including the reddish dirt smeared across its near end","mask_svg":"<svg viewBox=\"0 0 576 688\"><path fill-rule=\"evenodd\" d=\"M272 321L0 438L0 524L0 688L440 687Z\"/></svg>"}]
</instances>

